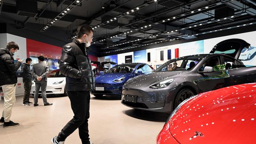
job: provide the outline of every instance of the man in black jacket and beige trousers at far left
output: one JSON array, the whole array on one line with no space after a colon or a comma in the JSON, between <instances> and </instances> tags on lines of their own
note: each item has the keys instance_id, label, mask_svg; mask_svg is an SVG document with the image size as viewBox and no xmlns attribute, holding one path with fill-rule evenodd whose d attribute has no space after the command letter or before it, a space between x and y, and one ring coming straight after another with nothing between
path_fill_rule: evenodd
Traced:
<instances>
[{"instance_id":1,"label":"man in black jacket and beige trousers at far left","mask_svg":"<svg viewBox=\"0 0 256 144\"><path fill-rule=\"evenodd\" d=\"M0 48L0 86L2 86L4 92L4 111L0 123L4 123L4 128L19 126L19 123L14 123L10 120L12 108L16 101L16 72L22 63L22 60L14 63L13 55L18 50L18 44L13 41L8 42L6 48Z\"/></svg>"}]
</instances>

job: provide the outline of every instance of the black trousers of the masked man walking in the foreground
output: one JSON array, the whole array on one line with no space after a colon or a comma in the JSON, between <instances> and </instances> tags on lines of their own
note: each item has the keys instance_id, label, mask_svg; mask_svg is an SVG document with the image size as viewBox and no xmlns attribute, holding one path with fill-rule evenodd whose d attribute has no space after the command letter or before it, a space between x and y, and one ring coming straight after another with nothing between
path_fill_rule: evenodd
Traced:
<instances>
[{"instance_id":1,"label":"black trousers of the masked man walking in the foreground","mask_svg":"<svg viewBox=\"0 0 256 144\"><path fill-rule=\"evenodd\" d=\"M89 91L67 91L70 99L71 108L74 113L72 120L70 120L59 133L57 140L64 141L77 128L79 129L79 136L82 144L90 144L88 119L90 116L90 92Z\"/></svg>"}]
</instances>

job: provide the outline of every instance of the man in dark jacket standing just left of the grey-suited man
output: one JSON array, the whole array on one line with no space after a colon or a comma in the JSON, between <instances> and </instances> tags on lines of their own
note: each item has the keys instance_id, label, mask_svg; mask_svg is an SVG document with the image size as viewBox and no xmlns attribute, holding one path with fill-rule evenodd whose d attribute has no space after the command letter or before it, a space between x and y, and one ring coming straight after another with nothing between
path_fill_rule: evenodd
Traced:
<instances>
[{"instance_id":1,"label":"man in dark jacket standing just left of the grey-suited man","mask_svg":"<svg viewBox=\"0 0 256 144\"><path fill-rule=\"evenodd\" d=\"M32 59L27 58L26 59L26 63L24 63L21 66L21 76L23 79L23 83L24 83L24 96L23 96L23 103L22 105L30 105L29 101L29 96L30 96L30 90L31 90L31 86L32 86L32 80L33 80L33 76L32 76L32 71L30 70L30 63L32 62Z\"/></svg>"}]
</instances>

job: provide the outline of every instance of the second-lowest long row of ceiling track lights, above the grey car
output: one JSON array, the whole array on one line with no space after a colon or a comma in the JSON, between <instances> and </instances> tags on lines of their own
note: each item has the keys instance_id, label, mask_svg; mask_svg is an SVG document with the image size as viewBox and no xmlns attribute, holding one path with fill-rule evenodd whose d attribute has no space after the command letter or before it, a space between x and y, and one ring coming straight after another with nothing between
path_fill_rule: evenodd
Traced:
<instances>
[{"instance_id":1,"label":"second-lowest long row of ceiling track lights, above the grey car","mask_svg":"<svg viewBox=\"0 0 256 144\"><path fill-rule=\"evenodd\" d=\"M230 19L230 18L240 17L240 16L242 16L242 15L247 15L247 13L239 13L239 14L236 14L236 15L231 16L231 17L226 17L226 19L227 19L227 18ZM148 36L148 37L140 38L139 40L150 39L150 38L157 37L158 35L163 35L163 34L167 34L167 33L173 33L174 31L182 31L182 30L190 29L191 27L196 27L196 26L200 27L200 26L204 26L204 25L206 25L206 24L211 24L211 23L214 23L214 22L218 22L218 21L220 21L220 20L225 20L225 18L221 18L221 19L218 19L218 20L211 20L211 21L207 21L207 22L202 22L202 23L195 24L195 25L193 25L193 26L191 25L191 26L187 26L187 27L185 27L185 28L180 28L180 29L176 29L176 30L165 31L165 32L163 32L163 33L158 33L158 34L150 35L150 36ZM128 42L135 42L135 41L137 41L137 40L132 40L132 41L128 41ZM94 42L93 42L92 44L94 44ZM125 44L125 42L123 42L123 43L121 43L121 44ZM118 44L118 45L121 45L121 44ZM108 47L111 48L111 47L114 47L114 46L116 46L116 45L117 45L117 44L114 44L114 45L108 46ZM105 47L105 48L106 48L106 47Z\"/></svg>"}]
</instances>

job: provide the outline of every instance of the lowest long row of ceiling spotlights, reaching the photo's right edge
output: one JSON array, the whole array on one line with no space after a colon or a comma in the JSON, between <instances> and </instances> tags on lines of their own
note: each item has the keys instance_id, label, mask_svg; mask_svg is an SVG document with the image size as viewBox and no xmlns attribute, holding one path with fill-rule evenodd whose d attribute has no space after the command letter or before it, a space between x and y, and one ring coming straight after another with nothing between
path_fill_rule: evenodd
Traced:
<instances>
[{"instance_id":1,"label":"lowest long row of ceiling spotlights, reaching the photo's right edge","mask_svg":"<svg viewBox=\"0 0 256 144\"><path fill-rule=\"evenodd\" d=\"M214 31L207 31L207 32L197 33L197 34L193 34L193 35L187 35L187 36L183 36L183 37L177 37L177 38L174 38L174 39L172 39L172 40L178 40L178 39L182 39L182 38L190 37L190 36L194 36L194 35L204 35L204 34L213 33L213 32L216 32L216 31L223 31L223 30L228 30L228 29L232 29L232 28L238 28L238 27L242 27L242 26L248 26L248 25L251 25L251 24L256 24L256 22L250 22L250 23L247 23L247 24L242 24L242 25L238 25L238 26L232 26L232 27L228 27L228 28L222 28L222 29L214 30ZM170 41L172 41L172 40L170 40ZM130 48L141 47L141 46L145 46L145 45L149 45L149 44L157 44L157 43L161 43L161 42L167 42L167 41L168 41L168 40L165 40L165 41L158 41L158 42L152 42L152 43L143 44L143 45L140 45L140 46L130 46L130 47L122 48L122 49L119 49L119 50L104 52L104 54L108 54L108 53L111 53L111 52L117 52L117 51L120 51L120 50L127 50L127 49L130 49Z\"/></svg>"}]
</instances>

